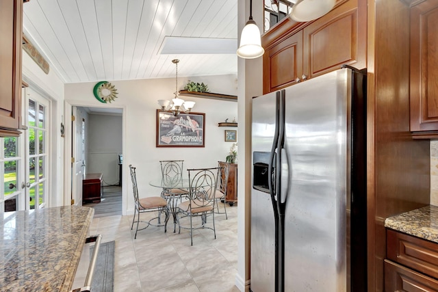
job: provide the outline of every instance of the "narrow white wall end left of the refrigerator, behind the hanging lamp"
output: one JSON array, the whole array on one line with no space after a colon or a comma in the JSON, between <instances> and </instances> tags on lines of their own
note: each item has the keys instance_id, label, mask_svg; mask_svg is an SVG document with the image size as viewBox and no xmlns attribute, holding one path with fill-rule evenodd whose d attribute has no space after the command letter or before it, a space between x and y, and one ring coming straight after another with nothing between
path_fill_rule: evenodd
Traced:
<instances>
[{"instance_id":1,"label":"narrow white wall end left of the refrigerator, behind the hanging lamp","mask_svg":"<svg viewBox=\"0 0 438 292\"><path fill-rule=\"evenodd\" d=\"M250 15L250 1L238 2L238 27L239 36ZM253 16L260 31L263 31L263 5L261 1L255 1ZM251 120L253 96L263 94L263 58L238 59L237 71L239 80L239 127L240 147L238 151L239 172L237 193L237 275L235 284L240 291L249 291L250 287L250 216L251 216Z\"/></svg>"}]
</instances>

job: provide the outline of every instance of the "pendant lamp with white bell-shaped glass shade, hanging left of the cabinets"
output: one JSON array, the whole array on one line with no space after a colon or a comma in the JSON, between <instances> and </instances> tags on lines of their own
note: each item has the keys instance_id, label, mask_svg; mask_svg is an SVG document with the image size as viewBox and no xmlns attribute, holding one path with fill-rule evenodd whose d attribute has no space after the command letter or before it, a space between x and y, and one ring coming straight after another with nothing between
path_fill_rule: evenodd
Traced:
<instances>
[{"instance_id":1,"label":"pendant lamp with white bell-shaped glass shade, hanging left of the cabinets","mask_svg":"<svg viewBox=\"0 0 438 292\"><path fill-rule=\"evenodd\" d=\"M253 21L253 0L249 2L249 20L246 21L242 34L240 35L240 47L237 55L244 59L255 59L265 53L261 47L260 30Z\"/></svg>"}]
</instances>

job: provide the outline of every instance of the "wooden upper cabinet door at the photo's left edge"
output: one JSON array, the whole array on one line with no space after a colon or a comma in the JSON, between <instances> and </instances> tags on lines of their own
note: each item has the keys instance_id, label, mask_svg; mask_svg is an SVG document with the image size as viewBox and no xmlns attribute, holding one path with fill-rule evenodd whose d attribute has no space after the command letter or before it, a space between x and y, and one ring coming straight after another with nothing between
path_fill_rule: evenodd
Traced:
<instances>
[{"instance_id":1,"label":"wooden upper cabinet door at the photo's left edge","mask_svg":"<svg viewBox=\"0 0 438 292\"><path fill-rule=\"evenodd\" d=\"M0 136L19 135L23 0L0 1Z\"/></svg>"}]
</instances>

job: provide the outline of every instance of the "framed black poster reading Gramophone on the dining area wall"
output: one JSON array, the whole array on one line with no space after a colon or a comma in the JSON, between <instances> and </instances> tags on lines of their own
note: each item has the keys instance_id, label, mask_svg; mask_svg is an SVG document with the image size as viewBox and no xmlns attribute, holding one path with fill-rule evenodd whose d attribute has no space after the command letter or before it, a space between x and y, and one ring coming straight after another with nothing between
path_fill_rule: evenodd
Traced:
<instances>
[{"instance_id":1,"label":"framed black poster reading Gramophone on the dining area wall","mask_svg":"<svg viewBox=\"0 0 438 292\"><path fill-rule=\"evenodd\" d=\"M157 109L157 147L204 147L205 114Z\"/></svg>"}]
</instances>

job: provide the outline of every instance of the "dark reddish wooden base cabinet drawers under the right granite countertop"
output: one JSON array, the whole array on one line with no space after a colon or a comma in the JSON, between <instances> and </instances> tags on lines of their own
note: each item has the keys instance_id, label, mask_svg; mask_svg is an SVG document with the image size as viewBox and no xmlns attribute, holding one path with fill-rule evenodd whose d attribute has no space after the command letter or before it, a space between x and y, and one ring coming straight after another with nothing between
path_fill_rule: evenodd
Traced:
<instances>
[{"instance_id":1,"label":"dark reddish wooden base cabinet drawers under the right granite countertop","mask_svg":"<svg viewBox=\"0 0 438 292\"><path fill-rule=\"evenodd\" d=\"M387 230L385 291L438 291L438 244Z\"/></svg>"}]
</instances>

